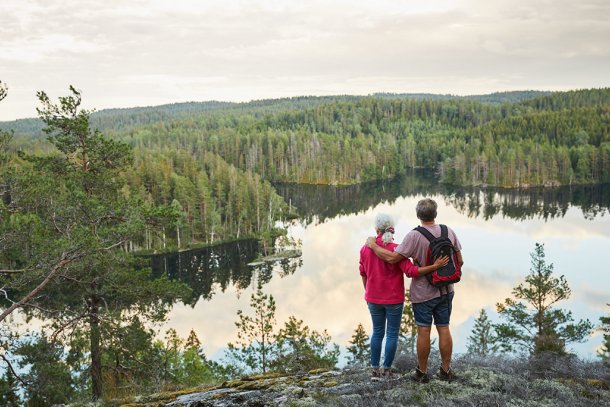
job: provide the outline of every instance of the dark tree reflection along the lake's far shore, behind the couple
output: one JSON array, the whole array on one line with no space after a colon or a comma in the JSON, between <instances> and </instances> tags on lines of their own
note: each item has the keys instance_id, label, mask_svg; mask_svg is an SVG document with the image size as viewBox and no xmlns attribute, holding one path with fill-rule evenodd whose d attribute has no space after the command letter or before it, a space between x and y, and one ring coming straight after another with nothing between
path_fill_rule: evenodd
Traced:
<instances>
[{"instance_id":1,"label":"dark tree reflection along the lake's far shore, behind the couple","mask_svg":"<svg viewBox=\"0 0 610 407\"><path fill-rule=\"evenodd\" d=\"M501 189L439 184L430 174L413 173L390 181L350 186L277 185L279 194L297 207L304 224L324 222L338 215L358 214L380 202L416 195L440 195L469 217L495 216L523 220L563 217L570 206L593 219L609 211L610 185L559 188Z\"/></svg>"}]
</instances>

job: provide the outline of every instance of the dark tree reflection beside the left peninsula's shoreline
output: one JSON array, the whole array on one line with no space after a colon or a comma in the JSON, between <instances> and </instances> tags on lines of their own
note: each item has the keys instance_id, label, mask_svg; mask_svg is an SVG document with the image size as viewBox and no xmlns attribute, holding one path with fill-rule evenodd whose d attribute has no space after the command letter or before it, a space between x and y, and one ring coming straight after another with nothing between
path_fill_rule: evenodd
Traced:
<instances>
[{"instance_id":1,"label":"dark tree reflection beside the left peninsula's shoreline","mask_svg":"<svg viewBox=\"0 0 610 407\"><path fill-rule=\"evenodd\" d=\"M249 266L261 252L258 240L240 240L212 247L150 256L153 276L167 274L171 279L186 283L193 295L190 305L199 298L209 300L216 290L224 292L233 285L238 291L250 286L254 279L263 284L274 272L281 277L293 274L301 266L300 258L282 259L258 266Z\"/></svg>"}]
</instances>

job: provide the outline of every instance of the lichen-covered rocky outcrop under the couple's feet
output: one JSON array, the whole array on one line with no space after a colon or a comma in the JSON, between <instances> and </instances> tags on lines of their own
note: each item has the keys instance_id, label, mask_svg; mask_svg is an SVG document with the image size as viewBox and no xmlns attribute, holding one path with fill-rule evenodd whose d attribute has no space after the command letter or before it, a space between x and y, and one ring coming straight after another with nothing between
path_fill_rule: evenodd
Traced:
<instances>
[{"instance_id":1,"label":"lichen-covered rocky outcrop under the couple's feet","mask_svg":"<svg viewBox=\"0 0 610 407\"><path fill-rule=\"evenodd\" d=\"M164 399L152 396L131 406L610 406L607 366L589 378L545 377L506 364L456 371L459 377L451 383L433 377L427 384L413 382L410 373L373 382L362 368L248 376Z\"/></svg>"}]
</instances>

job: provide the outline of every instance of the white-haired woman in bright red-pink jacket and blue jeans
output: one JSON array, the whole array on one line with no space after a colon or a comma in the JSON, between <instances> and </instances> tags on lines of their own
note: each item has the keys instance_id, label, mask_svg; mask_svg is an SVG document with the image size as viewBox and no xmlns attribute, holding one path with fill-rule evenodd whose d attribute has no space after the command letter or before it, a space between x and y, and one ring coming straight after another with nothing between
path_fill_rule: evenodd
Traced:
<instances>
[{"instance_id":1,"label":"white-haired woman in bright red-pink jacket and blue jeans","mask_svg":"<svg viewBox=\"0 0 610 407\"><path fill-rule=\"evenodd\" d=\"M377 244L393 251L394 221L389 215L378 214L375 217ZM364 299L366 300L373 321L371 336L371 367L372 379L392 378L392 362L398 345L398 332L402 319L402 309L405 301L405 284L403 273L411 278L423 276L439 269L448 262L444 257L434 264L417 267L411 260L404 259L399 263L390 264L379 259L366 245L360 250L360 275L364 284ZM386 336L387 324L387 336ZM380 370L381 343L386 336L383 371Z\"/></svg>"}]
</instances>

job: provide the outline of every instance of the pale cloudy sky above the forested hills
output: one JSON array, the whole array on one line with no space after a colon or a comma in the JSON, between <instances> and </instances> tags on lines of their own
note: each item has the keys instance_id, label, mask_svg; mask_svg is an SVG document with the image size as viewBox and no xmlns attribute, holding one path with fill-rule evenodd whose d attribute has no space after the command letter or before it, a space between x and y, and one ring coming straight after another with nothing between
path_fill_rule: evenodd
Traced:
<instances>
[{"instance_id":1,"label":"pale cloudy sky above the forested hills","mask_svg":"<svg viewBox=\"0 0 610 407\"><path fill-rule=\"evenodd\" d=\"M2 0L0 120L84 107L610 85L607 0Z\"/></svg>"}]
</instances>

